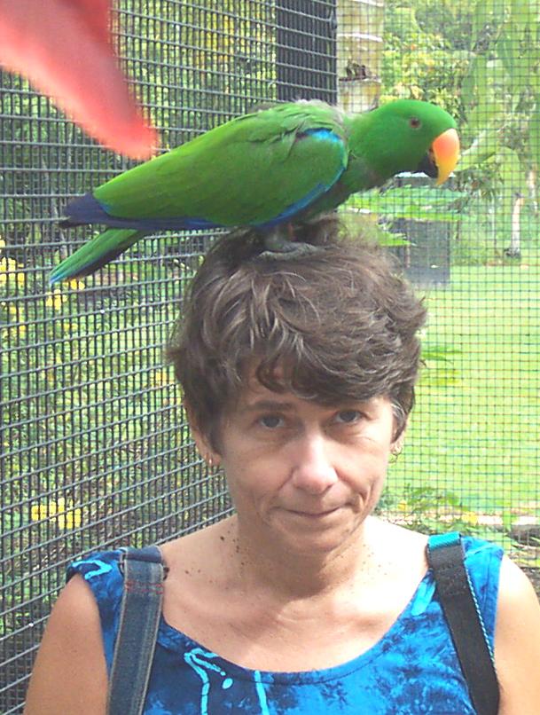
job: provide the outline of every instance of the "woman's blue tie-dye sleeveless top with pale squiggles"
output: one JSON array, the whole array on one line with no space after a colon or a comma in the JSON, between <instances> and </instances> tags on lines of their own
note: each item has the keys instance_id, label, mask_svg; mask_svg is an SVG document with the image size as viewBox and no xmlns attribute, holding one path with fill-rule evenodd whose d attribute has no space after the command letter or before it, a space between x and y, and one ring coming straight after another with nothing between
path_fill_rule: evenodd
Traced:
<instances>
[{"instance_id":1,"label":"woman's blue tie-dye sleeveless top with pale squiggles","mask_svg":"<svg viewBox=\"0 0 540 715\"><path fill-rule=\"evenodd\" d=\"M466 567L493 645L502 551L466 538ZM111 668L121 603L120 552L74 562L98 601ZM348 663L309 672L242 668L176 631L161 617L145 715L473 715L431 571L395 624Z\"/></svg>"}]
</instances>

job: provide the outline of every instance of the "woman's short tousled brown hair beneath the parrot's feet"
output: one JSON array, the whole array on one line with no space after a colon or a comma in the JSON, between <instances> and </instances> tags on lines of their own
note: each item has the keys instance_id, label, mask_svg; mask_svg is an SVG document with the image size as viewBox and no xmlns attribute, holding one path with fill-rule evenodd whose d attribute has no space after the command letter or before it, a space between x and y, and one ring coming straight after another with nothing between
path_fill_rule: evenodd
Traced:
<instances>
[{"instance_id":1,"label":"woman's short tousled brown hair beneath the parrot's feet","mask_svg":"<svg viewBox=\"0 0 540 715\"><path fill-rule=\"evenodd\" d=\"M250 366L265 387L324 405L388 397L395 438L411 411L426 310L397 264L335 216L304 224L296 238L317 250L278 261L261 255L254 230L231 232L192 280L166 354L216 450Z\"/></svg>"}]
</instances>

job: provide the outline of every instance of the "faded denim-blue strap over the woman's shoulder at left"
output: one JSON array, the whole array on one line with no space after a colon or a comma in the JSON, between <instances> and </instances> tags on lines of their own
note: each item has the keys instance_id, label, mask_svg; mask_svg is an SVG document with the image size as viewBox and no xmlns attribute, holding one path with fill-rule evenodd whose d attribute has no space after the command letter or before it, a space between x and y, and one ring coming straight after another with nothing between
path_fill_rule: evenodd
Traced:
<instances>
[{"instance_id":1,"label":"faded denim-blue strap over the woman's shoulder at left","mask_svg":"<svg viewBox=\"0 0 540 715\"><path fill-rule=\"evenodd\" d=\"M163 601L164 567L160 549L157 546L127 548L121 554L120 568L124 590L109 679L107 715L140 715L145 705Z\"/></svg>"}]
</instances>

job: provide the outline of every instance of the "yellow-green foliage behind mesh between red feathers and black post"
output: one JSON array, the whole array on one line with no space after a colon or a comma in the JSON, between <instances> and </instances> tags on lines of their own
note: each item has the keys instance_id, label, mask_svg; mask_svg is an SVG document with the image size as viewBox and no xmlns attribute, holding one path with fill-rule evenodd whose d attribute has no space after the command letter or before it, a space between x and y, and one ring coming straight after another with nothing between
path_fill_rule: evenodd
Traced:
<instances>
[{"instance_id":1,"label":"yellow-green foliage behind mesh between red feathers and black post","mask_svg":"<svg viewBox=\"0 0 540 715\"><path fill-rule=\"evenodd\" d=\"M129 11L131 3L121 0L120 12L124 6ZM223 122L231 97L242 98L244 109L275 97L273 10L262 3L238 10L238 0L145 0L140 14L122 16L123 27L140 39L121 37L121 54L144 88L166 148Z\"/></svg>"}]
</instances>

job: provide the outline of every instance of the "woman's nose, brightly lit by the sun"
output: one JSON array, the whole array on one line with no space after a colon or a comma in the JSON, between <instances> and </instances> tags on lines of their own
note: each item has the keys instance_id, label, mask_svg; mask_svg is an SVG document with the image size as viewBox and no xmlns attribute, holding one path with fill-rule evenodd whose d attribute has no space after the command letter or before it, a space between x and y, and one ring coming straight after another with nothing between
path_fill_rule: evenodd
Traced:
<instances>
[{"instance_id":1,"label":"woman's nose, brightly lit by the sun","mask_svg":"<svg viewBox=\"0 0 540 715\"><path fill-rule=\"evenodd\" d=\"M338 480L332 447L325 436L304 435L294 445L293 484L310 494L322 494Z\"/></svg>"}]
</instances>

